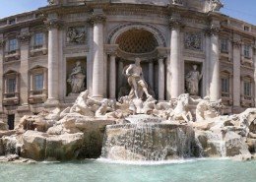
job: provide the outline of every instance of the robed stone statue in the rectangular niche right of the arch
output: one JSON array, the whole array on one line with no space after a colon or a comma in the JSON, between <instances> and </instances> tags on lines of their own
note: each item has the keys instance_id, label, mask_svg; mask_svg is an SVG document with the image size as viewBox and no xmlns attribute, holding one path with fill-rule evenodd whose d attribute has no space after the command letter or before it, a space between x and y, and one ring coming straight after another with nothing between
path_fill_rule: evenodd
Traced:
<instances>
[{"instance_id":1,"label":"robed stone statue in the rectangular niche right of the arch","mask_svg":"<svg viewBox=\"0 0 256 182\"><path fill-rule=\"evenodd\" d=\"M186 75L186 90L191 95L198 95L199 93L199 82L203 75L197 71L197 65L193 65L193 70L191 70Z\"/></svg>"}]
</instances>

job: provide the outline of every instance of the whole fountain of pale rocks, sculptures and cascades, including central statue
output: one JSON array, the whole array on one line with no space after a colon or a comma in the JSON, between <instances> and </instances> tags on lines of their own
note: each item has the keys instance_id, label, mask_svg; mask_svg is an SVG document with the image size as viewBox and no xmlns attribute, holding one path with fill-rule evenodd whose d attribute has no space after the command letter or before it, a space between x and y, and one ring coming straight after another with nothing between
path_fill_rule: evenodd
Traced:
<instances>
[{"instance_id":1,"label":"whole fountain of pale rocks, sculptures and cascades, including central statue","mask_svg":"<svg viewBox=\"0 0 256 182\"><path fill-rule=\"evenodd\" d=\"M24 116L14 131L1 133L0 155L15 153L34 160L101 156L133 161L252 157L256 109L222 116L221 100L195 99L189 93L160 102L148 92L139 62L136 59L136 64L124 70L131 87L129 95L118 101L97 100L89 91L82 91L71 107Z\"/></svg>"}]
</instances>

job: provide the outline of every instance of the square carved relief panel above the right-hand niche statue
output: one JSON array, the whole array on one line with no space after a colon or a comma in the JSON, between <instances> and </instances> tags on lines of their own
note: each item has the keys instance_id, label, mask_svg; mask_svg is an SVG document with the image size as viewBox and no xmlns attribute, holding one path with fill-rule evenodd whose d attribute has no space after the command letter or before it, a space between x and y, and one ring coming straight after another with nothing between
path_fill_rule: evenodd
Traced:
<instances>
[{"instance_id":1,"label":"square carved relief panel above the right-hand niche statue","mask_svg":"<svg viewBox=\"0 0 256 182\"><path fill-rule=\"evenodd\" d=\"M184 45L186 49L202 50L202 33L186 32Z\"/></svg>"}]
</instances>

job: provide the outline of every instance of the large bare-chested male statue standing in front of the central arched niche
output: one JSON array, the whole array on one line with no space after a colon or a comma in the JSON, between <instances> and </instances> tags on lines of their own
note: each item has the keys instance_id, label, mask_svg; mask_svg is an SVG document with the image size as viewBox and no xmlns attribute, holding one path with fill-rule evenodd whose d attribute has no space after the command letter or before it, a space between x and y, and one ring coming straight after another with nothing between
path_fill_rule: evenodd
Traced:
<instances>
[{"instance_id":1,"label":"large bare-chested male statue standing in front of the central arched niche","mask_svg":"<svg viewBox=\"0 0 256 182\"><path fill-rule=\"evenodd\" d=\"M148 91L148 85L144 80L142 67L140 66L141 59L135 58L135 64L130 64L127 69L124 69L124 74L128 78L128 84L131 87L129 93L130 98L143 98L143 93L147 97L152 97Z\"/></svg>"}]
</instances>

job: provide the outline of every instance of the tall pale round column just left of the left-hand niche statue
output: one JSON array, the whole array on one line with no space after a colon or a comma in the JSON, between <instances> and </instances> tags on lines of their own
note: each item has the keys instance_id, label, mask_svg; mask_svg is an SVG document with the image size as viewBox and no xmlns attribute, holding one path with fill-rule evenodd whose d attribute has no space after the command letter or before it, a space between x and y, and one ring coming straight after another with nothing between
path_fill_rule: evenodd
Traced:
<instances>
[{"instance_id":1,"label":"tall pale round column just left of the left-hand niche statue","mask_svg":"<svg viewBox=\"0 0 256 182\"><path fill-rule=\"evenodd\" d=\"M59 27L60 22L56 19L45 22L48 27L48 99L47 103L57 104L58 97L58 70L59 70Z\"/></svg>"}]
</instances>

